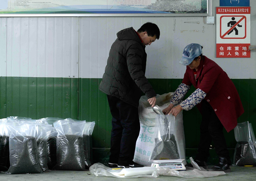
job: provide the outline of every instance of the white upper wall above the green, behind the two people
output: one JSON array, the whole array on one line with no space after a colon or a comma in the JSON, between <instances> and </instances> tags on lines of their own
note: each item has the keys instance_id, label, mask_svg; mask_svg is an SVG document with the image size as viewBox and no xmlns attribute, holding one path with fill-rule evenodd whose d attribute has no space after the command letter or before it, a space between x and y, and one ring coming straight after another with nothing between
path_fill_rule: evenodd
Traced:
<instances>
[{"instance_id":1,"label":"white upper wall above the green, behind the two people","mask_svg":"<svg viewBox=\"0 0 256 181\"><path fill-rule=\"evenodd\" d=\"M214 1L213 15L216 6ZM252 45L255 15L252 10ZM195 42L230 78L256 79L256 51L251 58L215 58L216 25L206 24L205 17L0 18L0 76L102 78L116 33L148 21L158 25L160 39L146 47L147 78L182 79L182 51Z\"/></svg>"}]
</instances>

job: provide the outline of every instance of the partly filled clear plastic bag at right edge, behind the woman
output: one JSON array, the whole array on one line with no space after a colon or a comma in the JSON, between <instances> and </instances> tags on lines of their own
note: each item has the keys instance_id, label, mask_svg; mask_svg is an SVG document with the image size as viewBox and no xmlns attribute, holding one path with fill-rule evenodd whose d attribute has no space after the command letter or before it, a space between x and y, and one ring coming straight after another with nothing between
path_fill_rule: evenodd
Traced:
<instances>
[{"instance_id":1,"label":"partly filled clear plastic bag at right edge, behind the woman","mask_svg":"<svg viewBox=\"0 0 256 181\"><path fill-rule=\"evenodd\" d=\"M237 141L234 153L234 165L256 166L256 141L252 124L248 121L238 123L234 129Z\"/></svg>"}]
</instances>

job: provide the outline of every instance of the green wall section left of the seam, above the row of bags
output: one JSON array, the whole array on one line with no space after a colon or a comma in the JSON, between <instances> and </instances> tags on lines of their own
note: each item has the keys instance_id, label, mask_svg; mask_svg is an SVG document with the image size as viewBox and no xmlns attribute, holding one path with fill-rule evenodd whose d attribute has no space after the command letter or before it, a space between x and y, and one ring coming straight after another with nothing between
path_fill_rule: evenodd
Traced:
<instances>
[{"instance_id":1,"label":"green wall section left of the seam, above the row of bags","mask_svg":"<svg viewBox=\"0 0 256 181\"><path fill-rule=\"evenodd\" d=\"M0 118L78 119L78 79L0 77Z\"/></svg>"}]
</instances>

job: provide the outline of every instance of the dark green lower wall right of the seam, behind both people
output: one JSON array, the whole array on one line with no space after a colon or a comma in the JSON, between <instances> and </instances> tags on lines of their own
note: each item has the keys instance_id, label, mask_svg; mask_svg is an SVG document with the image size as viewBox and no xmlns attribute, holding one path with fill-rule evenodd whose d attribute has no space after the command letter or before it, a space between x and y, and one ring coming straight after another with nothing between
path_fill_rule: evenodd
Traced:
<instances>
[{"instance_id":1,"label":"dark green lower wall right of the seam, behind both people","mask_svg":"<svg viewBox=\"0 0 256 181\"><path fill-rule=\"evenodd\" d=\"M93 132L93 147L110 147L111 114L108 108L106 95L99 91L101 79L79 79L79 119L95 121ZM180 85L182 79L149 79L157 94L174 92ZM238 123L249 121L256 130L256 95L253 91L256 88L256 79L232 79L241 97L245 113L238 118ZM191 87L185 98L187 98L195 87ZM184 131L186 148L197 148L200 135L201 114L197 108L183 111ZM234 131L229 133L223 129L227 139L228 148L235 148L236 140ZM212 143L214 146L214 144Z\"/></svg>"}]
</instances>

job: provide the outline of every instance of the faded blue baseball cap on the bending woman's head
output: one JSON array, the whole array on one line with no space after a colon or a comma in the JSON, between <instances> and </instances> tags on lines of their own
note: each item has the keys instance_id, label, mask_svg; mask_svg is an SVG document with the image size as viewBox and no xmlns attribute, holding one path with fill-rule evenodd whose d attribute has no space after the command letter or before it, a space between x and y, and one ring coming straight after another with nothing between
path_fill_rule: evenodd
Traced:
<instances>
[{"instance_id":1,"label":"faded blue baseball cap on the bending woman's head","mask_svg":"<svg viewBox=\"0 0 256 181\"><path fill-rule=\"evenodd\" d=\"M194 58L199 57L202 54L202 47L197 43L191 43L185 47L183 50L182 57L180 59L180 64L189 65L194 60Z\"/></svg>"}]
</instances>

